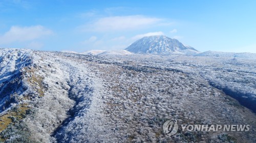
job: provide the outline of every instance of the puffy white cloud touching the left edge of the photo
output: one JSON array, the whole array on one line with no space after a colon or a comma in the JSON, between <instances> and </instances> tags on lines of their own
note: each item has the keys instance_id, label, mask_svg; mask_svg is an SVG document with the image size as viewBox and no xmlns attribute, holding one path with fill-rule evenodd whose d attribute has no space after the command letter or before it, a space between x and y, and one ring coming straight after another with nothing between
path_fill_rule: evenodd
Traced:
<instances>
[{"instance_id":1,"label":"puffy white cloud touching the left edge of the photo","mask_svg":"<svg viewBox=\"0 0 256 143\"><path fill-rule=\"evenodd\" d=\"M53 32L42 26L17 27L13 26L4 35L0 36L0 44L8 44L13 42L31 41L42 36L51 35Z\"/></svg>"}]
</instances>

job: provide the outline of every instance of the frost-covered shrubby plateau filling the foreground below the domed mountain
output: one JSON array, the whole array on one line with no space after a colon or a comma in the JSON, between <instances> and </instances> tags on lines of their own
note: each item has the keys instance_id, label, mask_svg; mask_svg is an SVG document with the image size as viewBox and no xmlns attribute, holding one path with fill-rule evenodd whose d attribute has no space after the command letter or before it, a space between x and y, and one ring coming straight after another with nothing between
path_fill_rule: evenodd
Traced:
<instances>
[{"instance_id":1,"label":"frost-covered shrubby plateau filling the foreground below the domed mountain","mask_svg":"<svg viewBox=\"0 0 256 143\"><path fill-rule=\"evenodd\" d=\"M256 142L255 58L212 55L0 49L0 142Z\"/></svg>"}]
</instances>

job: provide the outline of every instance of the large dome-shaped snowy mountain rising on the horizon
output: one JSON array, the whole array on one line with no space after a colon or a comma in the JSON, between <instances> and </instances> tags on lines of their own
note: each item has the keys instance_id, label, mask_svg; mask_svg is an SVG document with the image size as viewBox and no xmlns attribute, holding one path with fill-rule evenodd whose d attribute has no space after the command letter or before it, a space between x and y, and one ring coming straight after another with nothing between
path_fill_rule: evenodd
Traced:
<instances>
[{"instance_id":1,"label":"large dome-shaped snowy mountain rising on the horizon","mask_svg":"<svg viewBox=\"0 0 256 143\"><path fill-rule=\"evenodd\" d=\"M136 54L183 54L195 55L200 53L191 46L185 46L177 39L172 39L166 36L148 36L135 41L125 50Z\"/></svg>"}]
</instances>

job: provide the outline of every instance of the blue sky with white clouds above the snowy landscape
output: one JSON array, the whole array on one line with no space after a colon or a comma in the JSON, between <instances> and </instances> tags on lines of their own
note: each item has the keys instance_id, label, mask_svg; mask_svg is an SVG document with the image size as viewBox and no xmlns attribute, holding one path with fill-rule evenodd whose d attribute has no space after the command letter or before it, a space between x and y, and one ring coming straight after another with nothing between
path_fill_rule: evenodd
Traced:
<instances>
[{"instance_id":1,"label":"blue sky with white clouds above the snowy landscape","mask_svg":"<svg viewBox=\"0 0 256 143\"><path fill-rule=\"evenodd\" d=\"M256 1L1 0L0 47L124 49L166 35L204 51L256 53Z\"/></svg>"}]
</instances>

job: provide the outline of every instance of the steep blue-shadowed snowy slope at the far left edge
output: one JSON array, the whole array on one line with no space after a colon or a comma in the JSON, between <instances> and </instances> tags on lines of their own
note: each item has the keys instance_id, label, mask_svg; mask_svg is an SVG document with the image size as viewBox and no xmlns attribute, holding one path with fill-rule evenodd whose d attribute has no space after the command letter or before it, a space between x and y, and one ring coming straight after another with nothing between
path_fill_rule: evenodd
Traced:
<instances>
[{"instance_id":1,"label":"steep blue-shadowed snowy slope at the far left edge","mask_svg":"<svg viewBox=\"0 0 256 143\"><path fill-rule=\"evenodd\" d=\"M29 92L29 86L22 84L25 80L22 76L23 69L31 64L32 51L0 50L0 111L5 111L21 100L17 95Z\"/></svg>"}]
</instances>

